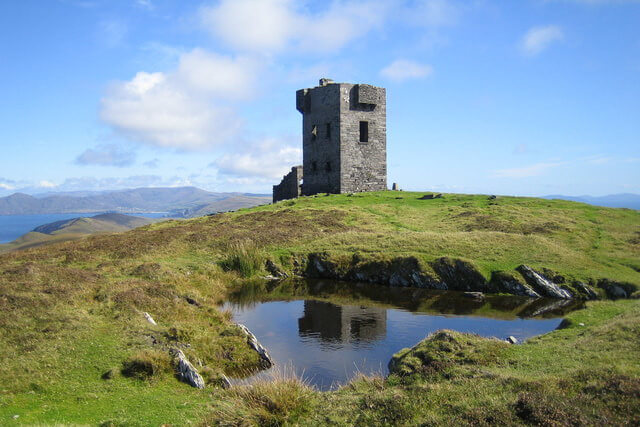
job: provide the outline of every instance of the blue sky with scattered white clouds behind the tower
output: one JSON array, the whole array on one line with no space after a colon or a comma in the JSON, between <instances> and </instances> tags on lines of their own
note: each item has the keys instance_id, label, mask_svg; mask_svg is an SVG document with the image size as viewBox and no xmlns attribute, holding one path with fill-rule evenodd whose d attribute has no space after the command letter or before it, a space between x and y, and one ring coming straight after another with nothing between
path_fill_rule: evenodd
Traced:
<instances>
[{"instance_id":1,"label":"blue sky with scattered white clouds behind the tower","mask_svg":"<svg viewBox=\"0 0 640 427\"><path fill-rule=\"evenodd\" d=\"M0 196L270 193L322 77L387 89L389 186L640 193L637 0L6 0Z\"/></svg>"}]
</instances>

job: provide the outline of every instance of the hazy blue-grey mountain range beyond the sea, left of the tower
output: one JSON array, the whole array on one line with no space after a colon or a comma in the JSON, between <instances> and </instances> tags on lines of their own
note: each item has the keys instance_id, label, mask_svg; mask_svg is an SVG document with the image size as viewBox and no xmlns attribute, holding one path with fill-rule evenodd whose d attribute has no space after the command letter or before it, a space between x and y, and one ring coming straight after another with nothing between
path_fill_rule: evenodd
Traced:
<instances>
[{"instance_id":1,"label":"hazy blue-grey mountain range beyond the sea, left of the tower","mask_svg":"<svg viewBox=\"0 0 640 427\"><path fill-rule=\"evenodd\" d=\"M190 211L233 198L242 199L239 207L255 206L270 201L265 195L212 193L196 187L136 188L97 193L48 193L37 196L15 193L0 198L0 215ZM234 202L230 200L222 206L234 206ZM219 210L228 209L223 207Z\"/></svg>"}]
</instances>

